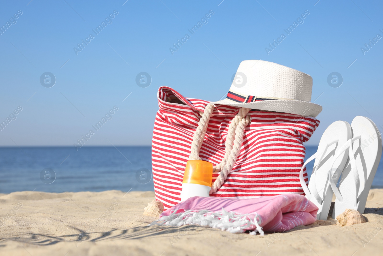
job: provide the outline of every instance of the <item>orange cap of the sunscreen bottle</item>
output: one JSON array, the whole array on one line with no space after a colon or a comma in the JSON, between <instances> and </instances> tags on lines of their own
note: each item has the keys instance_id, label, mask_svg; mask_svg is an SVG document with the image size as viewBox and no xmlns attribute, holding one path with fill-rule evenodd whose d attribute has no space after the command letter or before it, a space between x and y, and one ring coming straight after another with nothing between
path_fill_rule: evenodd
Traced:
<instances>
[{"instance_id":1,"label":"orange cap of the sunscreen bottle","mask_svg":"<svg viewBox=\"0 0 383 256\"><path fill-rule=\"evenodd\" d=\"M189 160L186 163L182 183L200 184L211 187L213 164L203 160Z\"/></svg>"}]
</instances>

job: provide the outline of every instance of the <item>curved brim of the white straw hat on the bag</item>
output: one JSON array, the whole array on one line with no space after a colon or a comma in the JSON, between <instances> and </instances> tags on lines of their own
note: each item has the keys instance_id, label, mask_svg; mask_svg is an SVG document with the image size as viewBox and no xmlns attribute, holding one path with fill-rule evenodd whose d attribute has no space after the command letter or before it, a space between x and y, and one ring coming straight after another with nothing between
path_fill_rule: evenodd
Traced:
<instances>
[{"instance_id":1,"label":"curved brim of the white straw hat on the bag","mask_svg":"<svg viewBox=\"0 0 383 256\"><path fill-rule=\"evenodd\" d=\"M255 102L233 102L229 99L223 99L221 101L210 102L214 105L227 105L234 107L246 107L249 109L259 109L265 111L283 112L288 114L296 114L300 116L311 116L316 117L322 111L322 106L299 100L290 99L272 99L266 101L255 101Z\"/></svg>"}]
</instances>

